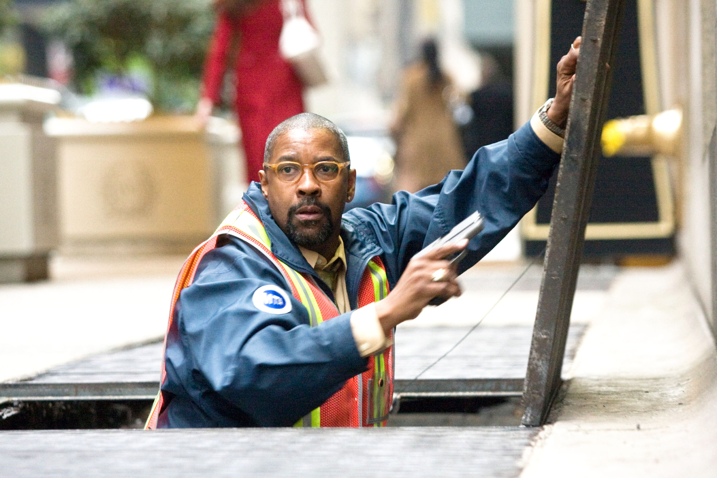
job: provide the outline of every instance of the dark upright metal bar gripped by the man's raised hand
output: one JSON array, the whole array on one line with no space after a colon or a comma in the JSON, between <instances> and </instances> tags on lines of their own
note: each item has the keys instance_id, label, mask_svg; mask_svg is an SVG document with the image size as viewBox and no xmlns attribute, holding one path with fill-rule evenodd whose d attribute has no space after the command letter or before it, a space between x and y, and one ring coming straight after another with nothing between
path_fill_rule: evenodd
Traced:
<instances>
[{"instance_id":1,"label":"dark upright metal bar gripped by the man's raised hand","mask_svg":"<svg viewBox=\"0 0 717 478\"><path fill-rule=\"evenodd\" d=\"M587 0L582 45L560 161L533 341L523 425L546 422L561 386L565 341L599 161L624 0Z\"/></svg>"}]
</instances>

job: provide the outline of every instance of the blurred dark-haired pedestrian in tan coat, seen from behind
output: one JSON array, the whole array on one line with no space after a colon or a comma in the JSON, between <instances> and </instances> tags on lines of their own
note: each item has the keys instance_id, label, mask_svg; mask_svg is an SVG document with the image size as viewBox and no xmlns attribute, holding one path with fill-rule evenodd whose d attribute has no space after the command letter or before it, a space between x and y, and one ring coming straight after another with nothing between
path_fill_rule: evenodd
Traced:
<instances>
[{"instance_id":1,"label":"blurred dark-haired pedestrian in tan coat, seen from behind","mask_svg":"<svg viewBox=\"0 0 717 478\"><path fill-rule=\"evenodd\" d=\"M416 192L465 166L453 122L455 89L438 64L436 42L422 45L422 59L404 72L391 135L397 143L394 188Z\"/></svg>"}]
</instances>

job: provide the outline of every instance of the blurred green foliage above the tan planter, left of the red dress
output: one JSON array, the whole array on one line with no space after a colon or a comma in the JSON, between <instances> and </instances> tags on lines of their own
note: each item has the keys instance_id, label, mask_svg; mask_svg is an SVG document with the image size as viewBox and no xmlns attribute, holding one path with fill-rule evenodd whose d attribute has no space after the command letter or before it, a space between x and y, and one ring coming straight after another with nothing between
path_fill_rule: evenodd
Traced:
<instances>
[{"instance_id":1,"label":"blurred green foliage above the tan planter, left of the red dress","mask_svg":"<svg viewBox=\"0 0 717 478\"><path fill-rule=\"evenodd\" d=\"M160 110L196 102L212 26L208 0L72 0L44 19L72 52L77 90L92 94L98 74L126 75L140 65Z\"/></svg>"}]
</instances>

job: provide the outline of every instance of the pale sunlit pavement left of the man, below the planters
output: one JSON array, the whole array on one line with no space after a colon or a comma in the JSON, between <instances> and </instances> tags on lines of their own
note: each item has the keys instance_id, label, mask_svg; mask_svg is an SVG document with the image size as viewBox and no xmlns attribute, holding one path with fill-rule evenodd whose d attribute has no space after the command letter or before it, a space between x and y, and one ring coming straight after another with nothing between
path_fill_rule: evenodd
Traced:
<instances>
[{"instance_id":1,"label":"pale sunlit pavement left of the man, below the planters","mask_svg":"<svg viewBox=\"0 0 717 478\"><path fill-rule=\"evenodd\" d=\"M184 257L56 259L49 282L0 286L0 381L164 335Z\"/></svg>"}]
</instances>

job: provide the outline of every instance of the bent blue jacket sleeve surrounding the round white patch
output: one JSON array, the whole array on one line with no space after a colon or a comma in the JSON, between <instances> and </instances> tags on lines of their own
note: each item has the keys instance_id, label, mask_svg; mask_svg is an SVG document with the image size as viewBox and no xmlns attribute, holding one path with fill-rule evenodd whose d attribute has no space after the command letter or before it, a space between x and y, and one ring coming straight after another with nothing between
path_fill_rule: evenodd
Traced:
<instances>
[{"instance_id":1,"label":"bent blue jacket sleeve surrounding the round white patch","mask_svg":"<svg viewBox=\"0 0 717 478\"><path fill-rule=\"evenodd\" d=\"M252 295L266 285L287 292L290 311L257 309ZM163 389L189 394L209 416L235 406L260 426L291 426L366 370L350 316L309 327L307 310L277 269L232 239L204 256L181 292Z\"/></svg>"}]
</instances>

